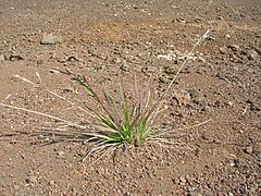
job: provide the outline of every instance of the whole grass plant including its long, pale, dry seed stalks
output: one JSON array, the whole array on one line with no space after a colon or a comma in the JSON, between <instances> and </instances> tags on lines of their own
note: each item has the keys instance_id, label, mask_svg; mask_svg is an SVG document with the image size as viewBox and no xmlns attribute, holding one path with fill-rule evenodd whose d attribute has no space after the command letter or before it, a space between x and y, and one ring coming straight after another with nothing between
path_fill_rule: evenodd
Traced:
<instances>
[{"instance_id":1,"label":"whole grass plant including its long, pale, dry seed stalks","mask_svg":"<svg viewBox=\"0 0 261 196\"><path fill-rule=\"evenodd\" d=\"M126 97L126 93L123 88L123 85L120 85L119 94L121 97L121 103L116 103L115 99L105 89L102 89L101 91L102 96L100 96L88 84L88 81L86 79L85 76L76 75L70 71L57 70L60 73L70 75L72 79L76 81L85 89L85 91L91 98L91 100L95 103L97 103L98 109L94 109L87 105L85 106L88 109L88 111L94 113L95 119L98 121L91 122L86 126L79 125L77 123L73 123L58 117L49 115L46 113L24 108L18 108L12 105L7 105L4 103L4 101L9 98L9 96L2 102L0 102L0 106L48 117L50 119L62 121L65 124L67 124L67 126L75 126L77 128L85 130L84 132L84 135L86 137L85 142L94 142L94 146L87 151L85 158L92 152L104 150L104 152L102 152L101 156L97 159L99 160L101 157L114 151L120 146L122 147L139 146L149 139L156 140L158 143L173 144L172 142L169 140L169 138L172 137L173 131L153 130L153 123L162 108L162 103L165 101L166 95L169 94L178 74L186 65L189 58L192 56L195 48L208 36L208 34L209 30L207 30L204 35L201 36L199 40L195 44L191 51L188 53L187 58L185 59L185 61L178 69L177 73L175 74L174 78L169 84L163 96L153 105L150 103L150 90L148 87L149 85L145 85L145 88L139 90L136 84L136 79L134 88L134 91L136 93L134 96L136 99L135 102L133 105L129 103ZM38 74L37 76L39 77ZM33 85L37 85L24 77L21 76L17 77ZM48 91L65 100L65 98L50 90ZM85 110L80 107L78 107L78 109ZM195 126L199 126L207 122L208 121L188 127L191 128ZM87 131L88 128L92 131Z\"/></svg>"}]
</instances>

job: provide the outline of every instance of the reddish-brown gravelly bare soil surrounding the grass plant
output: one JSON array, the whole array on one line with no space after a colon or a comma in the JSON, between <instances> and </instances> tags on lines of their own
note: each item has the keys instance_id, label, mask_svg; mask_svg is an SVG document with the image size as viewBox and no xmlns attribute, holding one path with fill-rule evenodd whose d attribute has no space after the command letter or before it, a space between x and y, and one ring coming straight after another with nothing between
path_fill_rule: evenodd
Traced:
<instances>
[{"instance_id":1,"label":"reddish-brown gravelly bare soil surrounding the grass plant","mask_svg":"<svg viewBox=\"0 0 261 196\"><path fill-rule=\"evenodd\" d=\"M86 113L46 88L73 102L86 96L50 70L72 70L111 91L121 79L130 91L134 74L140 83L152 75L159 97L209 28L158 119L175 131L175 144L117 149L88 166L79 160L90 144L69 142L74 128L50 135L44 128L61 122L0 107L0 195L260 195L259 0L1 0L0 98L82 123ZM65 42L41 45L49 34ZM14 76L39 84L36 72L37 87Z\"/></svg>"}]
</instances>

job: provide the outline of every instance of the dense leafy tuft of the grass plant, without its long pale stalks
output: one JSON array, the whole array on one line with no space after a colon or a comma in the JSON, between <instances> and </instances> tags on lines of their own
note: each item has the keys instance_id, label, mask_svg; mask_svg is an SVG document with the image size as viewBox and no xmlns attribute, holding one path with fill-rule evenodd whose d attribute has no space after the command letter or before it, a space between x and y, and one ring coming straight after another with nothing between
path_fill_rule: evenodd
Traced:
<instances>
[{"instance_id":1,"label":"dense leafy tuft of the grass plant, without its long pale stalks","mask_svg":"<svg viewBox=\"0 0 261 196\"><path fill-rule=\"evenodd\" d=\"M95 140L96 145L88 154L104 147L140 146L153 134L151 121L156 110L154 106L149 107L151 95L149 84L145 85L144 89L139 89L135 77L135 102L133 106L129 106L123 85L120 85L121 103L119 105L108 90L102 89L102 96L99 95L85 76L70 71L60 72L76 81L100 108L99 111L85 105L98 120L98 124L94 122L89 124L96 130L96 133L87 134L88 142Z\"/></svg>"}]
</instances>

